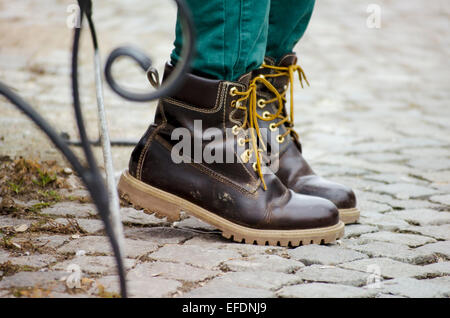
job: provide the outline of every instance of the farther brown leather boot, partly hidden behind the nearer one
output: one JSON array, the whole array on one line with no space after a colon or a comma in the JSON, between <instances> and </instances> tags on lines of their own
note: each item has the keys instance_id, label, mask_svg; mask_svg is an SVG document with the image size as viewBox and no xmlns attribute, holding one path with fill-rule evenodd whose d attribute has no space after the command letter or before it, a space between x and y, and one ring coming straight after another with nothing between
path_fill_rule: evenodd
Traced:
<instances>
[{"instance_id":1,"label":"farther brown leather boot, partly hidden behind the nearer one","mask_svg":"<svg viewBox=\"0 0 450 318\"><path fill-rule=\"evenodd\" d=\"M276 63L272 58L266 57L262 67L254 71L254 76L263 75L277 89L282 96L282 103L267 86L258 85L257 105L260 128L269 131L268 144L277 143L276 154L278 170L276 175L289 189L297 193L318 196L332 201L339 209L340 219L344 223L356 222L359 210L356 208L356 198L352 189L317 176L302 156L302 147L298 134L294 130L293 118L293 77L297 72L303 87L303 80L308 83L303 70L296 65L295 53L287 54ZM290 90L290 113L287 113L286 95ZM275 134L269 139L270 134ZM263 136L264 138L264 136ZM270 142L270 140L274 140ZM270 151L270 149L269 149Z\"/></svg>"}]
</instances>

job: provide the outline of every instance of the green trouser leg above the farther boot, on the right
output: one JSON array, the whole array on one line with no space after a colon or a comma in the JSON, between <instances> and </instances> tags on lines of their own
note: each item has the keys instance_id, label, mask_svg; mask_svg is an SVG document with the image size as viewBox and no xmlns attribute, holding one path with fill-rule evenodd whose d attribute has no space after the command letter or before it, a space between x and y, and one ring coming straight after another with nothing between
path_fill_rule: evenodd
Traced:
<instances>
[{"instance_id":1,"label":"green trouser leg above the farther boot, on the right","mask_svg":"<svg viewBox=\"0 0 450 318\"><path fill-rule=\"evenodd\" d=\"M305 33L315 0L272 0L266 55L279 60Z\"/></svg>"}]
</instances>

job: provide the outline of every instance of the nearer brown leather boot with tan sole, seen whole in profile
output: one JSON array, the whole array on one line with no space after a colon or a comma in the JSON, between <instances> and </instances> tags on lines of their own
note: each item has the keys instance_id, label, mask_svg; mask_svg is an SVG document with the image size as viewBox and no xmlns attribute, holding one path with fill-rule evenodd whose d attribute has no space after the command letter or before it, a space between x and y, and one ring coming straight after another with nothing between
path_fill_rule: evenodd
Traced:
<instances>
[{"instance_id":1,"label":"nearer brown leather boot with tan sole, seen whole in profile","mask_svg":"<svg viewBox=\"0 0 450 318\"><path fill-rule=\"evenodd\" d=\"M166 66L165 78L172 69ZM273 173L262 175L260 162L248 160L251 148L239 148L249 142L255 145L255 136L245 136L242 129L249 125L246 105L255 91L250 79L250 73L237 82L187 75L174 96L159 101L155 123L134 149L129 169L119 181L121 197L171 221L185 211L238 242L297 246L336 240L343 235L344 224L333 203L297 194ZM201 120L201 127L195 120ZM227 129L232 136L228 139ZM226 141L211 141L212 130ZM231 147L227 154L231 153L232 163L207 163L195 153L189 155L191 148L179 151L179 141L172 138L180 131L190 133L194 152L198 145L205 151L211 143L216 154ZM180 158L184 162L176 163Z\"/></svg>"}]
</instances>

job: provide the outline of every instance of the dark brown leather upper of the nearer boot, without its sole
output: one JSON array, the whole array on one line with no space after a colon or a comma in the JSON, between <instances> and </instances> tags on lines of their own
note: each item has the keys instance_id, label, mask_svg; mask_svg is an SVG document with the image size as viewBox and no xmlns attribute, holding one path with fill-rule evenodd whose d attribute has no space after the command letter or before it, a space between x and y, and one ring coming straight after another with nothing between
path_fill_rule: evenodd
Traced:
<instances>
[{"instance_id":1,"label":"dark brown leather upper of the nearer boot, without its sole","mask_svg":"<svg viewBox=\"0 0 450 318\"><path fill-rule=\"evenodd\" d=\"M167 79L172 71L166 66ZM152 124L134 149L129 172L135 178L163 191L177 195L236 224L255 229L293 230L333 226L339 222L338 210L328 200L297 194L289 190L275 174L264 176L267 190L251 163L241 161L237 140L225 138L225 128L245 119L245 111L231 107L237 96L230 90L248 87L251 73L237 82L204 79L188 74L184 85L171 97L159 101ZM163 80L164 81L164 80ZM178 140L172 140L175 128L187 129L194 136L195 120L202 120L202 149L211 143L209 128L218 128L225 143L217 147L233 147L233 163L175 163L171 151ZM191 137L192 145L195 143ZM199 140L197 140L198 142ZM194 148L194 146L192 147ZM223 149L225 153L226 149ZM190 162L189 162L190 161Z\"/></svg>"}]
</instances>

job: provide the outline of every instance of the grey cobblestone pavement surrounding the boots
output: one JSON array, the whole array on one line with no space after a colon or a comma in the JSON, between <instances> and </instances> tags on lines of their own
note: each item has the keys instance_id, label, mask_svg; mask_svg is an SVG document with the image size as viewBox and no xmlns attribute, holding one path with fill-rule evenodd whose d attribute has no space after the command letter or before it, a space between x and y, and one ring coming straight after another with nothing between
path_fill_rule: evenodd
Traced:
<instances>
[{"instance_id":1,"label":"grey cobblestone pavement surrounding the boots","mask_svg":"<svg viewBox=\"0 0 450 318\"><path fill-rule=\"evenodd\" d=\"M318 174L355 189L359 223L346 226L345 237L334 244L281 248L232 243L191 217L171 224L123 207L132 296L450 296L450 6L444 0L379 0L376 29L366 26L369 3L318 1L296 47L311 82L295 93L304 154ZM66 8L62 0L0 1L0 79L75 138ZM95 1L95 18L104 55L133 43L150 52L161 69L171 48L173 6L164 0L101 0ZM95 138L89 41L83 42L80 71ZM127 62L117 72L124 82L148 89ZM124 102L107 88L105 94L112 137L140 137L155 104ZM67 165L23 115L3 99L0 104L1 155ZM130 152L114 149L118 174ZM79 233L54 233L45 226L32 231L35 218L0 213L2 233L13 232L0 234L9 246L0 248L0 297L118 292L93 205L76 180L64 191L62 200L37 214L58 224L76 220ZM72 264L82 270L81 288L68 288L61 279Z\"/></svg>"}]
</instances>

